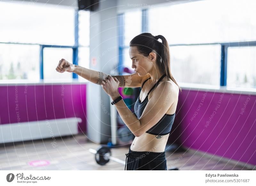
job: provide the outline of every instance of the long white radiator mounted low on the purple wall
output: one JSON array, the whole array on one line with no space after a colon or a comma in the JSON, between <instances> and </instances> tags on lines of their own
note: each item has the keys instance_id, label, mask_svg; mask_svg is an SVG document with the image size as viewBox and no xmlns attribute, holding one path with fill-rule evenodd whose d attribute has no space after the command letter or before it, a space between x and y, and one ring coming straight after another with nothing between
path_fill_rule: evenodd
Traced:
<instances>
[{"instance_id":1,"label":"long white radiator mounted low on the purple wall","mask_svg":"<svg viewBox=\"0 0 256 186\"><path fill-rule=\"evenodd\" d=\"M0 125L0 143L56 138L78 133L77 117Z\"/></svg>"}]
</instances>

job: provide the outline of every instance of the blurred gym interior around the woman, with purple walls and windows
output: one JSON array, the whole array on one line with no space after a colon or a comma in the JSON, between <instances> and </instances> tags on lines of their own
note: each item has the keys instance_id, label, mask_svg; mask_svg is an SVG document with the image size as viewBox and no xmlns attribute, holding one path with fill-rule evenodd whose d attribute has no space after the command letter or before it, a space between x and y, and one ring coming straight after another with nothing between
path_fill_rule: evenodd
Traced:
<instances>
[{"instance_id":1,"label":"blurred gym interior around the woman, with purple walls and windows","mask_svg":"<svg viewBox=\"0 0 256 186\"><path fill-rule=\"evenodd\" d=\"M256 169L255 1L0 0L0 170L124 170L134 135L69 62L134 73L129 42L163 35L182 89L168 170ZM140 87L119 87L134 112Z\"/></svg>"}]
</instances>

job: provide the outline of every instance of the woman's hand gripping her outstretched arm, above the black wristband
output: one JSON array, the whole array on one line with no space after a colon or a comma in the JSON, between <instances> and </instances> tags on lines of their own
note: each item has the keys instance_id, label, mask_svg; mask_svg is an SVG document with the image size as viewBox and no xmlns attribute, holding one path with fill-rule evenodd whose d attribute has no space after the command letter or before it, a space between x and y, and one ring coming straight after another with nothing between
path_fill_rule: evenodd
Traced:
<instances>
[{"instance_id":1,"label":"woman's hand gripping her outstretched arm, above the black wristband","mask_svg":"<svg viewBox=\"0 0 256 186\"><path fill-rule=\"evenodd\" d=\"M118 93L118 85L119 81L112 76L108 76L107 78L102 80L101 86L103 90L112 98L114 99L116 96L120 95Z\"/></svg>"}]
</instances>

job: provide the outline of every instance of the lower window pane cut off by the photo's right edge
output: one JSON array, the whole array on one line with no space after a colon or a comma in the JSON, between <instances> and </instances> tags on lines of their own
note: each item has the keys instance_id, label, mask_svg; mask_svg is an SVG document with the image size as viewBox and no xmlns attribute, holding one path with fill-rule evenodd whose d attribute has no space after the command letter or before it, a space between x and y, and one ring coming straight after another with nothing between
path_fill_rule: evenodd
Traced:
<instances>
[{"instance_id":1,"label":"lower window pane cut off by the photo's right edge","mask_svg":"<svg viewBox=\"0 0 256 186\"><path fill-rule=\"evenodd\" d=\"M256 88L256 47L228 47L227 86Z\"/></svg>"}]
</instances>

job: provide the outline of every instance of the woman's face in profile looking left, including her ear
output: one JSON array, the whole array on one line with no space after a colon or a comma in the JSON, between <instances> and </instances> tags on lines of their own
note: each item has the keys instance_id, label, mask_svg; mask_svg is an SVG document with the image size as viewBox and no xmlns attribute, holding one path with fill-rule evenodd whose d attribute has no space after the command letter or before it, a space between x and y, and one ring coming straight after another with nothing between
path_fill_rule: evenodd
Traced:
<instances>
[{"instance_id":1,"label":"woman's face in profile looking left, including her ear","mask_svg":"<svg viewBox=\"0 0 256 186\"><path fill-rule=\"evenodd\" d=\"M132 68L139 76L145 76L153 67L154 58L152 61L152 53L149 56L143 56L139 53L136 46L130 47L129 55L132 59ZM154 53L153 53L154 56Z\"/></svg>"}]
</instances>

